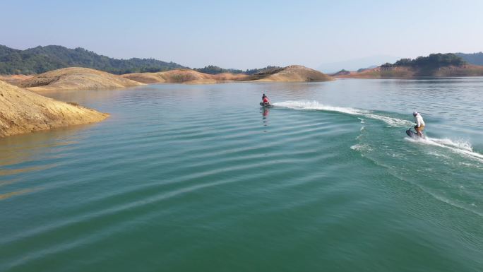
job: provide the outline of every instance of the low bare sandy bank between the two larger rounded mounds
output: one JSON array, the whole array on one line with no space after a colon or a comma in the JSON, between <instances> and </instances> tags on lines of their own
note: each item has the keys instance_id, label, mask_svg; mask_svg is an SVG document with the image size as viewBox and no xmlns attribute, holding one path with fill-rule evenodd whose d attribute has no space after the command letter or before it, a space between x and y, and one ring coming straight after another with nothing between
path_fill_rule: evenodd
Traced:
<instances>
[{"instance_id":1,"label":"low bare sandy bank between the two larger rounded mounds","mask_svg":"<svg viewBox=\"0 0 483 272\"><path fill-rule=\"evenodd\" d=\"M133 81L141 83L220 83L239 80L245 78L243 74L219 73L211 75L188 69L177 69L157 73L126 73L122 75Z\"/></svg>"}]
</instances>

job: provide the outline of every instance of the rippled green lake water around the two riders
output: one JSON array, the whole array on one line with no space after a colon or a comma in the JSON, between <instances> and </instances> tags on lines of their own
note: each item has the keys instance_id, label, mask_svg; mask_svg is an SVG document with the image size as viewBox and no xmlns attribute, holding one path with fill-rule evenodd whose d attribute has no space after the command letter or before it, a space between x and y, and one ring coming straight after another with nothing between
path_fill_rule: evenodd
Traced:
<instances>
[{"instance_id":1,"label":"rippled green lake water around the two riders","mask_svg":"<svg viewBox=\"0 0 483 272\"><path fill-rule=\"evenodd\" d=\"M52 96L112 116L0 139L0 271L483 271L483 78Z\"/></svg>"}]
</instances>

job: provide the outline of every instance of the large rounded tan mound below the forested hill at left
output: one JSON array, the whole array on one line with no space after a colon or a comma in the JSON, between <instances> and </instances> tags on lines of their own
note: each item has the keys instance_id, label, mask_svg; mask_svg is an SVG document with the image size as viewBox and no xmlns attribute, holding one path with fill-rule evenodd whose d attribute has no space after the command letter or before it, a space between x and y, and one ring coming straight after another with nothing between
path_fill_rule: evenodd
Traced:
<instances>
[{"instance_id":1,"label":"large rounded tan mound below the forested hill at left","mask_svg":"<svg viewBox=\"0 0 483 272\"><path fill-rule=\"evenodd\" d=\"M51 90L100 90L143 85L121 76L94 69L70 67L48 71L19 83L20 87L35 92Z\"/></svg>"}]
</instances>

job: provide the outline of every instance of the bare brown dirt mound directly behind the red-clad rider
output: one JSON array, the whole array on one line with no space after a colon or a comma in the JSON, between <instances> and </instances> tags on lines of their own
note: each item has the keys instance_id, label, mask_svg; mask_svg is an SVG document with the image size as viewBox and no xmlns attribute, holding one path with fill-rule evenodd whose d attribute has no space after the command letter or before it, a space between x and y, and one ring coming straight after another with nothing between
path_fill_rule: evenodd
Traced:
<instances>
[{"instance_id":1,"label":"bare brown dirt mound directly behind the red-clad rider","mask_svg":"<svg viewBox=\"0 0 483 272\"><path fill-rule=\"evenodd\" d=\"M256 73L239 81L258 82L309 82L309 81L333 81L335 78L325 73L300 65L291 65L285 68L273 69L262 73Z\"/></svg>"}]
</instances>

